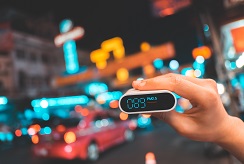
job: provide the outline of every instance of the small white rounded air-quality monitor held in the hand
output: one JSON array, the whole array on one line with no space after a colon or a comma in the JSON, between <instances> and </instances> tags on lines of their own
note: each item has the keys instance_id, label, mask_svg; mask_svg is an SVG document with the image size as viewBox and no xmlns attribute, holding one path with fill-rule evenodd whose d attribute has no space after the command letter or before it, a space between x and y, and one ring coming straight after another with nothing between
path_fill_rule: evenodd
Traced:
<instances>
[{"instance_id":1,"label":"small white rounded air-quality monitor held in the hand","mask_svg":"<svg viewBox=\"0 0 244 164\"><path fill-rule=\"evenodd\" d=\"M119 100L119 108L127 114L168 112L177 100L168 90L139 91L129 89Z\"/></svg>"}]
</instances>

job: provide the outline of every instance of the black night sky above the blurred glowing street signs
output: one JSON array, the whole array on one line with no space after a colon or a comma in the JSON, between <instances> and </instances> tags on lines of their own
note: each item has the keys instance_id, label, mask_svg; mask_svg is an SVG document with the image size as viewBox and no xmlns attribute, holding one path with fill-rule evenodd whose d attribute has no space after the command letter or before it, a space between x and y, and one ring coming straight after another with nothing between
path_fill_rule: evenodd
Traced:
<instances>
[{"instance_id":1,"label":"black night sky above the blurred glowing street signs","mask_svg":"<svg viewBox=\"0 0 244 164\"><path fill-rule=\"evenodd\" d=\"M180 63L192 61L191 50L197 47L197 16L188 7L172 16L155 17L150 0L6 0L1 6L16 8L31 15L52 13L58 24L62 19L73 20L85 29L77 45L89 51L100 48L102 41L119 36L124 41L126 54L138 52L140 43L159 45L173 41L176 59ZM3 5L4 4L4 5Z\"/></svg>"}]
</instances>

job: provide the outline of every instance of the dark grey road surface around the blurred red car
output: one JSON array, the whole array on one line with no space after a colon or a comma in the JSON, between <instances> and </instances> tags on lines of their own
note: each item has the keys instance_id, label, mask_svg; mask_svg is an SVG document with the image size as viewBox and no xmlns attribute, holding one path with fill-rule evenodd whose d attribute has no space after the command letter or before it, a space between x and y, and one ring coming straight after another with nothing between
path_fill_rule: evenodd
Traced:
<instances>
[{"instance_id":1,"label":"dark grey road surface around the blurred red car","mask_svg":"<svg viewBox=\"0 0 244 164\"><path fill-rule=\"evenodd\" d=\"M145 154L153 152L157 164L233 164L228 154L207 157L202 142L179 136L168 125L154 124L136 131L136 139L101 154L95 164L145 164ZM74 160L40 160L31 155L30 147L7 149L0 154L0 164L89 164Z\"/></svg>"}]
</instances>

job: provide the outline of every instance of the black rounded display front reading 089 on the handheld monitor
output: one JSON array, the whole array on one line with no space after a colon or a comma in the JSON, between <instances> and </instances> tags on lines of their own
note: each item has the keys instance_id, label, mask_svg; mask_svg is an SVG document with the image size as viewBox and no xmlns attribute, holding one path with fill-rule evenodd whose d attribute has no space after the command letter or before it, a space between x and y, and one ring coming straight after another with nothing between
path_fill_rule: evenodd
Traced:
<instances>
[{"instance_id":1,"label":"black rounded display front reading 089 on the handheld monitor","mask_svg":"<svg viewBox=\"0 0 244 164\"><path fill-rule=\"evenodd\" d=\"M126 95L120 100L120 107L125 112L146 113L150 111L166 111L175 106L176 100L171 93L153 93Z\"/></svg>"}]
</instances>

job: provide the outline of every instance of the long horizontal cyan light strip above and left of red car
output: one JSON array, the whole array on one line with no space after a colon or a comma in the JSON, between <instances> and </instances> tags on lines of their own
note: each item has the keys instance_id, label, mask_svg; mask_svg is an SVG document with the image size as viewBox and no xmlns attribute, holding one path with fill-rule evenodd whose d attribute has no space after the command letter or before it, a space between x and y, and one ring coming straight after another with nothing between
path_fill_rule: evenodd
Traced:
<instances>
[{"instance_id":1,"label":"long horizontal cyan light strip above and left of red car","mask_svg":"<svg viewBox=\"0 0 244 164\"><path fill-rule=\"evenodd\" d=\"M45 101L43 101L45 100ZM44 106L41 102L45 102ZM45 99L36 99L33 100L31 105L35 105L34 110L39 110L40 107L57 107L63 105L77 105L77 104L87 104L89 102L89 98L86 95L80 96L69 96L69 97L58 97L58 98L45 98Z\"/></svg>"}]
</instances>

